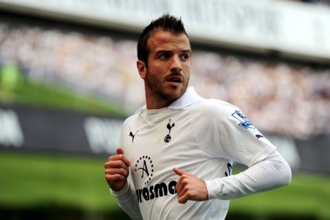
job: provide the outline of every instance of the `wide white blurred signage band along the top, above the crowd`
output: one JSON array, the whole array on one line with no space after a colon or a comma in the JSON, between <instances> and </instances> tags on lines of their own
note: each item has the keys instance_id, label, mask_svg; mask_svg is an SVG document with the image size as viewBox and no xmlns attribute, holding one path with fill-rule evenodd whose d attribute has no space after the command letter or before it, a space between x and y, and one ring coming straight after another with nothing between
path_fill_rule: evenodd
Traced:
<instances>
[{"instance_id":1,"label":"wide white blurred signage band along the top, above the crowd","mask_svg":"<svg viewBox=\"0 0 330 220\"><path fill-rule=\"evenodd\" d=\"M0 8L140 32L160 14L185 21L192 41L330 59L330 8L265 0L0 0Z\"/></svg>"}]
</instances>

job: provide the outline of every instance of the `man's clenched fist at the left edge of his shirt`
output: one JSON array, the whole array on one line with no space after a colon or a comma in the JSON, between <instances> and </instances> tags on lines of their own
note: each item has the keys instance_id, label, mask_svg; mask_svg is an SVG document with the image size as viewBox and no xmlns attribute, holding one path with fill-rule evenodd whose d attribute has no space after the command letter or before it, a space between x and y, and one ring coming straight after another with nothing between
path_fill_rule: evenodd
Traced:
<instances>
[{"instance_id":1,"label":"man's clenched fist at the left edge of his shirt","mask_svg":"<svg viewBox=\"0 0 330 220\"><path fill-rule=\"evenodd\" d=\"M108 161L104 164L104 173L105 179L112 190L120 191L124 188L129 176L129 166L129 159L124 156L122 148L117 148L117 154L108 158Z\"/></svg>"}]
</instances>

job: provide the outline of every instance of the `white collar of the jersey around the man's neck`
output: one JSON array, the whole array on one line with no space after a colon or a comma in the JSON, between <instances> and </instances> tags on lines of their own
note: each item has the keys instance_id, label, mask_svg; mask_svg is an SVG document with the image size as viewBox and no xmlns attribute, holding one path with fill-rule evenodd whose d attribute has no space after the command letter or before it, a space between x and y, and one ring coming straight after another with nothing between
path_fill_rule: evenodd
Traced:
<instances>
[{"instance_id":1,"label":"white collar of the jersey around the man's neck","mask_svg":"<svg viewBox=\"0 0 330 220\"><path fill-rule=\"evenodd\" d=\"M188 87L185 93L180 98L172 102L172 104L170 104L164 109L184 109L186 107L189 107L192 102L194 102L199 97L200 96L196 93L194 87ZM135 113L144 110L146 110L146 104L144 104L144 107L142 107L141 109L135 111Z\"/></svg>"}]
</instances>

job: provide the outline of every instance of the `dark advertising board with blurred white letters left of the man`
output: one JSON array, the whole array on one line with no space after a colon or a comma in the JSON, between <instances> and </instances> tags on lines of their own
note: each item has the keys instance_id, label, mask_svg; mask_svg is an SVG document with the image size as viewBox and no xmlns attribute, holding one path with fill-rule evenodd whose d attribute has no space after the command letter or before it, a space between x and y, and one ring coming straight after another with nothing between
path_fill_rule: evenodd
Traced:
<instances>
[{"instance_id":1,"label":"dark advertising board with blurred white letters left of the man","mask_svg":"<svg viewBox=\"0 0 330 220\"><path fill-rule=\"evenodd\" d=\"M107 115L0 105L0 150L111 155L122 122Z\"/></svg>"}]
</instances>

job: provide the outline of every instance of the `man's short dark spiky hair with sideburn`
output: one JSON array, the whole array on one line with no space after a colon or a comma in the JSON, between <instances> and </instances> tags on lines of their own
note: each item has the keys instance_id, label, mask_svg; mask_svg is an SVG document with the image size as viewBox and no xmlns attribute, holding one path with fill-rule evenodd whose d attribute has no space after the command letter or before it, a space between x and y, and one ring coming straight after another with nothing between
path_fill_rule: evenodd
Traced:
<instances>
[{"instance_id":1,"label":"man's short dark spiky hair with sideburn","mask_svg":"<svg viewBox=\"0 0 330 220\"><path fill-rule=\"evenodd\" d=\"M188 36L181 18L178 19L170 14L163 14L158 19L151 21L151 23L144 28L137 42L137 58L140 61L144 61L146 65L148 65L148 54L150 52L146 43L151 34L157 30L167 31L173 34L186 34L186 36Z\"/></svg>"}]
</instances>

